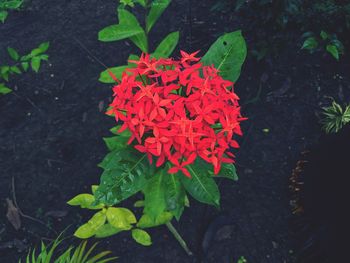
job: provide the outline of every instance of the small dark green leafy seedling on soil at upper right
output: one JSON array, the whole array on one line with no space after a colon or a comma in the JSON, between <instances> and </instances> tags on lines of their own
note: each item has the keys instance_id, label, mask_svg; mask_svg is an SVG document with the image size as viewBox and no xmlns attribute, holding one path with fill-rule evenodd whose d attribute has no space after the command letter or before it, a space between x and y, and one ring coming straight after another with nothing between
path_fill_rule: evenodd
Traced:
<instances>
[{"instance_id":1,"label":"small dark green leafy seedling on soil at upper right","mask_svg":"<svg viewBox=\"0 0 350 263\"><path fill-rule=\"evenodd\" d=\"M336 60L339 60L340 55L344 54L344 46L335 34L329 34L325 31L321 31L319 35L313 32L306 32L303 34L303 38L306 39L301 49L306 49L310 53L325 50Z\"/></svg>"}]
</instances>

